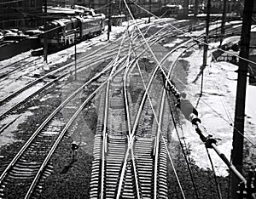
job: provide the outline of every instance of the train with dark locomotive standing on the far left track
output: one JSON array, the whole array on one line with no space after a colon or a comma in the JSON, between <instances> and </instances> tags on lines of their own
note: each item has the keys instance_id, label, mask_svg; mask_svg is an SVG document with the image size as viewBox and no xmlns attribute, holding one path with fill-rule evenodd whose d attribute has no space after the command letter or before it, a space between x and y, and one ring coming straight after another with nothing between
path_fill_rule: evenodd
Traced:
<instances>
[{"instance_id":1,"label":"train with dark locomotive standing on the far left track","mask_svg":"<svg viewBox=\"0 0 256 199\"><path fill-rule=\"evenodd\" d=\"M49 50L58 50L100 35L105 28L104 14L95 16L75 16L67 19L52 20L44 26ZM40 42L44 44L44 34Z\"/></svg>"}]
</instances>

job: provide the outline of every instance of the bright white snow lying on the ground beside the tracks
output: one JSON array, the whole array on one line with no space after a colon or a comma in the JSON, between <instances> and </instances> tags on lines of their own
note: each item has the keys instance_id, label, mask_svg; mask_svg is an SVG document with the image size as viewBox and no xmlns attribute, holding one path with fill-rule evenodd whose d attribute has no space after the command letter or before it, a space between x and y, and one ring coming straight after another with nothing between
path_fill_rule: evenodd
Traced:
<instances>
[{"instance_id":1,"label":"bright white snow lying on the ground beside the tracks","mask_svg":"<svg viewBox=\"0 0 256 199\"><path fill-rule=\"evenodd\" d=\"M143 21L145 20L142 20L142 22ZM110 40L115 40L117 35L124 32L126 25L127 23L124 23L123 26L119 27L113 26ZM192 34L189 33L189 36L193 37L201 34L201 32L202 31L192 32ZM98 41L98 45L103 45L104 43L107 43L106 40L107 32L102 34L100 37L91 39L90 42L79 43L77 45L77 52L79 53L86 51L86 46L91 42ZM212 44L212 46L214 46L214 44ZM195 83L192 81L200 71L200 66L202 64L202 53L203 52L201 49L195 49L193 54L184 59L189 62L189 85L187 85L187 98L193 105L195 105L197 111L199 111L202 124L207 128L208 133L212 134L215 138L221 139L218 141L218 147L221 151L224 151L224 154L227 157L230 158L230 149L233 136L233 128L230 126L230 124L234 119L237 77L237 73L235 71L237 70L237 66L227 62L210 63L209 60L211 59L208 57L208 66L204 72L203 95L199 100L201 77ZM74 50L73 47L71 47L67 48L66 50L62 50L59 53L49 55L49 65L64 62L73 54ZM1 64L8 65L12 61L20 59L20 57L24 57L25 55L26 54L17 55L12 59L4 60ZM41 64L43 65L42 60ZM256 103L253 103L255 98L256 88L253 86L248 86L245 134L248 139L252 140L253 143L256 143ZM195 128L192 127L189 121L184 121L183 123L183 134L187 143L189 143L191 146L191 156L195 160L196 164L201 168L210 168L210 164L207 161L208 158L205 147L201 143L199 136L195 134ZM226 175L227 167L224 165L224 162L222 162L214 152L211 154L218 175Z\"/></svg>"}]
</instances>

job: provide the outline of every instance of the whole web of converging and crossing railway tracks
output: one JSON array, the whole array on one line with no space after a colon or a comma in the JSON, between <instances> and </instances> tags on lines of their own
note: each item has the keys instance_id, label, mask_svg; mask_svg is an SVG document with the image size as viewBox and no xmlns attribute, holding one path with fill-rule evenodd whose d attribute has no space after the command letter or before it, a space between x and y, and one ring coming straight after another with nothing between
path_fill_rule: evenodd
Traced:
<instances>
[{"instance_id":1,"label":"whole web of converging and crossing railway tracks","mask_svg":"<svg viewBox=\"0 0 256 199\"><path fill-rule=\"evenodd\" d=\"M76 68L71 62L45 72L0 99L1 134L15 122L13 116L15 120L20 117L15 115L20 107L29 107L32 99L47 96L50 89L69 89L55 96L63 99L35 124L33 132L26 134L15 154L2 158L0 198L9 198L13 192L19 193L19 198L39 198L55 173L53 160L58 147L82 126L81 122L93 116L94 132L87 140L91 142L88 151L92 160L86 196L168 198L172 186L168 165L173 167L168 143L182 117L183 109L178 111L177 104L186 83L180 77L183 69L179 59L203 41L201 34L189 36L188 27L188 20L155 20L149 26L134 22L115 42L100 48L92 45L90 53L79 57ZM202 27L198 25L198 29ZM234 32L235 27L229 28ZM212 34L215 31L212 28ZM176 37L178 42L172 48L163 48L161 44ZM10 77L15 70L3 71L0 78ZM68 88L71 73L78 79L73 88ZM5 122L8 119L10 122ZM82 129L80 132L86 134ZM81 145L73 143L73 159L63 173L76 163L77 146ZM174 167L172 170L177 177ZM178 179L177 186L185 198Z\"/></svg>"}]
</instances>

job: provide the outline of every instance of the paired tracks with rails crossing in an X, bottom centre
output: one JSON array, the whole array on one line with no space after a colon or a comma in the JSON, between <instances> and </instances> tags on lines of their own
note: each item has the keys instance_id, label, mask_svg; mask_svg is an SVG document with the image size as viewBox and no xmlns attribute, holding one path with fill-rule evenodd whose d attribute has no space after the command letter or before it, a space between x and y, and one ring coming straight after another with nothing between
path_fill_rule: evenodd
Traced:
<instances>
[{"instance_id":1,"label":"paired tracks with rails crossing in an X, bottom centre","mask_svg":"<svg viewBox=\"0 0 256 199\"><path fill-rule=\"evenodd\" d=\"M132 124L129 110L132 103L128 97L131 94L126 93L123 84L123 79L126 84L128 71L124 77L113 77L105 95L102 94L90 181L91 198L151 198L154 185L157 195L167 197L165 146L156 140L152 130L155 128L153 111L146 102L147 90L158 70L155 67L150 75Z\"/></svg>"}]
</instances>

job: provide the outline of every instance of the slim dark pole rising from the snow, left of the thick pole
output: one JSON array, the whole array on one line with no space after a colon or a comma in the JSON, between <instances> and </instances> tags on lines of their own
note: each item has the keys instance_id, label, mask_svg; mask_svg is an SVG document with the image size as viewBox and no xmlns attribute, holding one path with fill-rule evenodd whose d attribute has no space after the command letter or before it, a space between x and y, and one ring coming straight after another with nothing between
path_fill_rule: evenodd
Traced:
<instances>
[{"instance_id":1,"label":"slim dark pole rising from the snow, left of the thick pole","mask_svg":"<svg viewBox=\"0 0 256 199\"><path fill-rule=\"evenodd\" d=\"M204 82L204 69L207 66L210 10L211 10L211 0L207 0L207 27L206 27L206 36L205 36L205 39L204 39L203 65L201 66L201 94L200 94L200 96L202 95L202 88L203 88L203 82Z\"/></svg>"}]
</instances>

